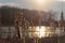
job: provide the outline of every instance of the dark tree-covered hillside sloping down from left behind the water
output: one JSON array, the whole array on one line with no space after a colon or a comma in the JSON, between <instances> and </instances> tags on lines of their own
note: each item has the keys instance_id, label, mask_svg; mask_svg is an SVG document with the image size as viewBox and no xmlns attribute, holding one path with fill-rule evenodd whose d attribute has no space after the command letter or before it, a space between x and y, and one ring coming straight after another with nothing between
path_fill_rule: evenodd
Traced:
<instances>
[{"instance_id":1,"label":"dark tree-covered hillside sloping down from left behind the water","mask_svg":"<svg viewBox=\"0 0 65 43\"><path fill-rule=\"evenodd\" d=\"M39 17L41 23L48 23L48 14L44 11L36 11L36 10L27 10L27 9L17 9L17 8L11 8L11 6L1 6L0 8L0 16L1 16L1 23L3 26L14 25L15 16L18 14L17 12L22 12L24 14L24 17L28 19L28 22L31 20L31 17L34 18L34 24L37 25L39 22Z\"/></svg>"}]
</instances>

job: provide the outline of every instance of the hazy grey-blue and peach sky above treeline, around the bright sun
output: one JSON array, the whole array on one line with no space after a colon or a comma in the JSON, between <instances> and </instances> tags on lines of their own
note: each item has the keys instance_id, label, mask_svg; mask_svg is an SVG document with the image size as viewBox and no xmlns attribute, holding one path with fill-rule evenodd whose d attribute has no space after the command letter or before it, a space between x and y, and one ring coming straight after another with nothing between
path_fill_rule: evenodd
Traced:
<instances>
[{"instance_id":1,"label":"hazy grey-blue and peach sky above treeline, around the bright sun","mask_svg":"<svg viewBox=\"0 0 65 43\"><path fill-rule=\"evenodd\" d=\"M46 10L46 11L55 11L61 13L62 11L62 1L63 1L63 11L65 12L65 0L47 0L40 5L37 4L35 0L0 0L1 5L11 5L17 6L22 9L30 9L30 10ZM57 14L60 16L60 14ZM65 16L65 13L64 13Z\"/></svg>"}]
</instances>

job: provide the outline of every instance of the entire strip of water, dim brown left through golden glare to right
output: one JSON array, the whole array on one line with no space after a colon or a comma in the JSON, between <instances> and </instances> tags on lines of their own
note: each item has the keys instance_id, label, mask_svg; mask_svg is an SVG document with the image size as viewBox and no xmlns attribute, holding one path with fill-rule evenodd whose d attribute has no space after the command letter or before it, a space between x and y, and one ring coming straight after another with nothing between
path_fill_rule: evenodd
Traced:
<instances>
[{"instance_id":1,"label":"entire strip of water, dim brown left through golden glare to right","mask_svg":"<svg viewBox=\"0 0 65 43\"><path fill-rule=\"evenodd\" d=\"M53 37L53 35L63 35L65 34L64 28L56 27L46 27L46 26L36 26L36 27L29 27L28 29L24 29L20 27L21 37L30 37L30 38L47 38L47 37ZM9 27L0 27L0 37L6 38L9 34L11 37L16 34L16 30L14 27L11 27L9 33Z\"/></svg>"}]
</instances>

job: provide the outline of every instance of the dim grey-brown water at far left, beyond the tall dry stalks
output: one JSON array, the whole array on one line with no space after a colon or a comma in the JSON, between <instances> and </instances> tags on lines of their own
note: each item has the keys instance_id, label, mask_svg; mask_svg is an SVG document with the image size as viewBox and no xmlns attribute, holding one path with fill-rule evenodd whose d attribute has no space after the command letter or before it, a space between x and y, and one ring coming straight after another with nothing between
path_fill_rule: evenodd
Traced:
<instances>
[{"instance_id":1,"label":"dim grey-brown water at far left, beyond the tall dry stalks","mask_svg":"<svg viewBox=\"0 0 65 43\"><path fill-rule=\"evenodd\" d=\"M15 31L15 27L10 27L10 31L9 31L9 27L0 27L0 38L8 38L9 34L12 37L14 37L16 34Z\"/></svg>"}]
</instances>

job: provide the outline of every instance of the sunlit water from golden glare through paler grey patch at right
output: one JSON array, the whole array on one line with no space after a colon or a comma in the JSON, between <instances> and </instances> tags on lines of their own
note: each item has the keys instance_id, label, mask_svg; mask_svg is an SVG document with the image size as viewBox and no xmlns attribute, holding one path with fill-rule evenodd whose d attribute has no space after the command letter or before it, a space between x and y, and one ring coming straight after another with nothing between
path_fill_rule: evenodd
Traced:
<instances>
[{"instance_id":1,"label":"sunlit water from golden glare through paler grey patch at right","mask_svg":"<svg viewBox=\"0 0 65 43\"><path fill-rule=\"evenodd\" d=\"M25 35L27 34L30 38L47 38L47 37L60 35L64 31L61 30L60 28L46 27L46 26L36 26L36 27L32 26L29 27L27 31L25 31Z\"/></svg>"}]
</instances>

